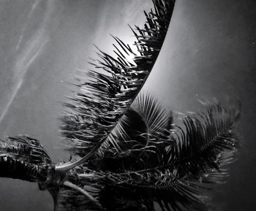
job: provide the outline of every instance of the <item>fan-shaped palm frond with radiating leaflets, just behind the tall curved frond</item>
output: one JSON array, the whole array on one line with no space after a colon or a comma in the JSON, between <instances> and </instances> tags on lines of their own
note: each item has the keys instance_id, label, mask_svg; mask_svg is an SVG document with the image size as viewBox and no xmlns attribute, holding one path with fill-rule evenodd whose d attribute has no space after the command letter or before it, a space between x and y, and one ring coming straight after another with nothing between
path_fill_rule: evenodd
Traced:
<instances>
[{"instance_id":1,"label":"fan-shaped palm frond with radiating leaflets, just behind the tall curved frond","mask_svg":"<svg viewBox=\"0 0 256 211\"><path fill-rule=\"evenodd\" d=\"M172 144L172 123L171 112L150 94L140 94L108 137L100 168L118 172L119 166L122 171L131 165L133 169L143 169L144 162L157 165L158 156L165 156L165 147Z\"/></svg>"}]
</instances>

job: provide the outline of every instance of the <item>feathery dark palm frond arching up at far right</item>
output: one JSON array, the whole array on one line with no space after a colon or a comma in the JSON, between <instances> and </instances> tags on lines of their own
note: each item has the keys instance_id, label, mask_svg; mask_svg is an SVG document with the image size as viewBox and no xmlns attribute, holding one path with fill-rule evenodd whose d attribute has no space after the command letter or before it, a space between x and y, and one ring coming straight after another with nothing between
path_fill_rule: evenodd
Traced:
<instances>
[{"instance_id":1,"label":"feathery dark palm frond arching up at far right","mask_svg":"<svg viewBox=\"0 0 256 211\"><path fill-rule=\"evenodd\" d=\"M176 128L176 149L170 150L177 174L200 177L198 171L208 172L205 166L219 169L218 156L238 147L238 137L233 132L238 118L238 108L225 110L219 104L209 107L206 113L185 116L185 129Z\"/></svg>"}]
</instances>

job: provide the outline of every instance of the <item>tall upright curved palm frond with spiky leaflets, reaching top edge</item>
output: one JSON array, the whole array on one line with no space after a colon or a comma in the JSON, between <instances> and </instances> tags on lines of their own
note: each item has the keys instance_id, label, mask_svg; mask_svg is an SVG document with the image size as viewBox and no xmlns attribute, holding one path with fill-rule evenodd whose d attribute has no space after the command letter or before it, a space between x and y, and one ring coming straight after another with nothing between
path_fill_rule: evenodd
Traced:
<instances>
[{"instance_id":1,"label":"tall upright curved palm frond with spiky leaflets, reaching top edge","mask_svg":"<svg viewBox=\"0 0 256 211\"><path fill-rule=\"evenodd\" d=\"M62 120L62 133L72 140L72 150L80 156L96 152L108 141L108 135L138 95L154 66L167 34L173 13L173 0L154 0L154 11L146 13L144 28L132 29L137 41L135 53L121 39L117 58L99 50L99 60L92 64L95 70L88 73L89 82L80 83L80 92ZM129 62L130 55L134 56ZM100 69L100 71L97 71Z\"/></svg>"}]
</instances>

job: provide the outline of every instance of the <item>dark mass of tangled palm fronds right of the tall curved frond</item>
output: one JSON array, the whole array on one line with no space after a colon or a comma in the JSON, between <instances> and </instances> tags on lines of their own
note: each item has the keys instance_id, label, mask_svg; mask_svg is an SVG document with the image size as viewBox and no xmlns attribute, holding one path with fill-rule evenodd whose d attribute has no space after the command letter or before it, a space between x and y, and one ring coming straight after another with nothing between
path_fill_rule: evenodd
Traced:
<instances>
[{"instance_id":1,"label":"dark mass of tangled palm fronds right of the tall curved frond","mask_svg":"<svg viewBox=\"0 0 256 211\"><path fill-rule=\"evenodd\" d=\"M205 210L203 189L227 176L223 165L238 147L238 116L237 109L212 104L176 126L152 96L139 96L104 156L75 172L107 210L154 210L155 203L162 210Z\"/></svg>"}]
</instances>

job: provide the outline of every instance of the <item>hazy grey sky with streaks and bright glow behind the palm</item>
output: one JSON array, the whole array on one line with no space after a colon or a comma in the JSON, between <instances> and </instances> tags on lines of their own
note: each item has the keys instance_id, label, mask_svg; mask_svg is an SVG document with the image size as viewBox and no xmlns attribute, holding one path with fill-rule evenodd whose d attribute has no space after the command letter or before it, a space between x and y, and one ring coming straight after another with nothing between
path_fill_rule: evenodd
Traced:
<instances>
[{"instance_id":1,"label":"hazy grey sky with streaks and bright glow behind the palm","mask_svg":"<svg viewBox=\"0 0 256 211\"><path fill-rule=\"evenodd\" d=\"M0 137L29 134L53 161L69 158L59 134L74 75L89 69L95 47L113 50L110 34L132 43L127 24L142 26L150 0L1 0ZM256 2L179 0L144 91L179 112L201 109L197 99L240 99L241 149L225 185L213 192L217 211L256 209ZM67 82L67 83L65 83ZM2 211L51 210L37 185L0 180Z\"/></svg>"}]
</instances>

